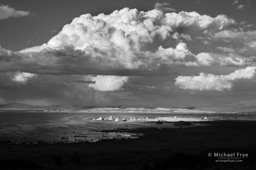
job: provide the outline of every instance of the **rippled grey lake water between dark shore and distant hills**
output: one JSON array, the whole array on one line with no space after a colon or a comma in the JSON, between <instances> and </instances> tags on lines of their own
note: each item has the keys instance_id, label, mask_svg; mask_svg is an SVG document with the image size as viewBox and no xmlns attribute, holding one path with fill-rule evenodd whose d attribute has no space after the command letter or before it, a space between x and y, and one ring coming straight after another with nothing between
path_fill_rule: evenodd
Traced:
<instances>
[{"instance_id":1,"label":"rippled grey lake water between dark shore and distant hills","mask_svg":"<svg viewBox=\"0 0 256 170\"><path fill-rule=\"evenodd\" d=\"M108 120L110 116L119 117L119 122ZM205 114L173 114L173 113L67 113L67 112L0 112L0 141L13 140L16 143L38 140L93 142L105 138L132 138L139 134L101 133L98 130L140 127L172 127L172 123L156 125L154 122L122 122L123 118L155 118L155 117L203 117ZM102 121L91 121L93 118L105 118Z\"/></svg>"}]
</instances>

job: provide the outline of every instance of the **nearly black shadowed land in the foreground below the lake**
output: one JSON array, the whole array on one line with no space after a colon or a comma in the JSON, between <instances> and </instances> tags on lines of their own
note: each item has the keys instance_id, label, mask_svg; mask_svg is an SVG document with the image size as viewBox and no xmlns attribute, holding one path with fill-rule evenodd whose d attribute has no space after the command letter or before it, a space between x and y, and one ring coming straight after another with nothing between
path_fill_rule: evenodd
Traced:
<instances>
[{"instance_id":1,"label":"nearly black shadowed land in the foreground below the lake","mask_svg":"<svg viewBox=\"0 0 256 170\"><path fill-rule=\"evenodd\" d=\"M256 169L256 122L214 121L203 124L207 126L106 130L144 133L144 136L137 139L104 139L94 143L14 144L2 141L0 169ZM208 156L209 153L212 156ZM214 153L247 153L248 157L238 163L215 162L218 159Z\"/></svg>"}]
</instances>

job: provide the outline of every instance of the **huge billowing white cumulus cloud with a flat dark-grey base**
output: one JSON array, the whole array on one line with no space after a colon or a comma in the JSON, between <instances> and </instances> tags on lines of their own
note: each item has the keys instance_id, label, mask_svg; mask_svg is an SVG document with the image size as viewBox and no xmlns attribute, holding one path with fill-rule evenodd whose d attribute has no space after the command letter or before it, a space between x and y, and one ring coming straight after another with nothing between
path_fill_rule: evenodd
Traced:
<instances>
[{"instance_id":1,"label":"huge billowing white cumulus cloud with a flat dark-grey base","mask_svg":"<svg viewBox=\"0 0 256 170\"><path fill-rule=\"evenodd\" d=\"M234 23L225 15L165 14L157 9L84 14L47 44L20 52L0 49L0 58L4 58L0 71L143 76L166 75L172 65L210 66L216 63L210 54L193 54L180 37L192 41L187 34L191 29L219 31ZM170 47L168 42L175 45Z\"/></svg>"}]
</instances>

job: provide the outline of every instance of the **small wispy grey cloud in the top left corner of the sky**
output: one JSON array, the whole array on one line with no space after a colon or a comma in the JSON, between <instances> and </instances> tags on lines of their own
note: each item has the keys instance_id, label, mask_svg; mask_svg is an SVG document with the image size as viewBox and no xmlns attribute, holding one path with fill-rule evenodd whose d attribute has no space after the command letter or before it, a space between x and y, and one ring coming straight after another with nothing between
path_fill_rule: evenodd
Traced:
<instances>
[{"instance_id":1,"label":"small wispy grey cloud in the top left corner of the sky","mask_svg":"<svg viewBox=\"0 0 256 170\"><path fill-rule=\"evenodd\" d=\"M5 20L7 18L19 18L28 16L30 13L22 10L15 10L8 5L0 5L0 20Z\"/></svg>"}]
</instances>

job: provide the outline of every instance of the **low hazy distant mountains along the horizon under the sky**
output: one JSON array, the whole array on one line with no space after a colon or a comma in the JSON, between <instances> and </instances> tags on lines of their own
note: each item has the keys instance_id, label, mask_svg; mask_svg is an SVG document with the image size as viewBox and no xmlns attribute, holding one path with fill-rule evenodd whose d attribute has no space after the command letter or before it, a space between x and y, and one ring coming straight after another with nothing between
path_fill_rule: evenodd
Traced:
<instances>
[{"instance_id":1,"label":"low hazy distant mountains along the horizon under the sky","mask_svg":"<svg viewBox=\"0 0 256 170\"><path fill-rule=\"evenodd\" d=\"M9 104L0 104L0 110L4 109L35 109L35 110L47 110L47 109L97 109L97 108L119 108L119 109L128 109L128 108L144 108L144 109L156 109L156 106L147 106L147 105L119 105L119 106L110 106L110 105L51 105L51 106L39 106L39 105L28 105L22 103L9 103ZM219 104L219 105L208 105L208 106L190 106L190 107L172 107L169 109L189 109L189 110L199 110L199 111L208 111L208 112L253 112L256 111L256 99L255 100L244 100L235 102L232 104Z\"/></svg>"}]
</instances>

